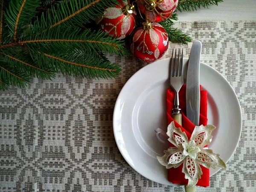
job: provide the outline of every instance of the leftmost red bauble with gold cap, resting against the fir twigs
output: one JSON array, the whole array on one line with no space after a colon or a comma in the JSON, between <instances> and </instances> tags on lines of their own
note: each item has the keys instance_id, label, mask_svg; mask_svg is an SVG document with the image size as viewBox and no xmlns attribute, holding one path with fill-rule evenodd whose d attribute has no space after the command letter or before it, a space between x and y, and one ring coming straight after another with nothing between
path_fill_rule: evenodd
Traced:
<instances>
[{"instance_id":1,"label":"leftmost red bauble with gold cap, resting against the fir twigs","mask_svg":"<svg viewBox=\"0 0 256 192\"><path fill-rule=\"evenodd\" d=\"M97 17L96 23L102 31L123 39L133 31L137 14L134 6L129 5L127 1L118 2L120 5L107 8L103 16Z\"/></svg>"}]
</instances>

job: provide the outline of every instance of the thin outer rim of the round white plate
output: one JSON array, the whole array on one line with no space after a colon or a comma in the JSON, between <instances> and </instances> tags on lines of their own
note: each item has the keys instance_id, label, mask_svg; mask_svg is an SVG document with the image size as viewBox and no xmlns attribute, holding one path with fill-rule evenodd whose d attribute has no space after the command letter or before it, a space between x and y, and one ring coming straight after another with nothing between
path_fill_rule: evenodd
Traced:
<instances>
[{"instance_id":1,"label":"thin outer rim of the round white plate","mask_svg":"<svg viewBox=\"0 0 256 192\"><path fill-rule=\"evenodd\" d=\"M170 59L170 58L165 58L165 59L161 59L161 60L158 60L158 61L154 61L154 62L152 62L152 63L150 63L150 64L147 64L147 65L144 66L144 67L148 67L148 66L151 66L151 65L153 65L153 64L155 64L155 63L157 63L157 62L162 62L162 61L169 60L169 59ZM184 60L189 60L189 58L183 58L183 59L184 59ZM235 147L234 150L232 151L232 155L228 158L227 162L225 162L225 163L228 163L228 162L230 161L231 157L234 155L234 153L235 153L235 151L236 151L236 148L237 148L238 145L239 145L239 141L240 141L240 139L241 139L242 122L243 122L243 121L242 121L241 105L240 105L239 99L238 99L238 97L237 97L237 95L236 95L236 92L235 92L235 90L233 89L233 87L231 86L230 82L227 81L227 79L226 79L224 76L222 76L222 74L221 74L220 72L218 72L218 70L215 70L213 67L211 67L211 66L209 66L209 65L207 65L207 64L205 64L205 63L203 63L203 62L200 61L200 65L201 65L201 64L203 64L205 67L207 67L207 68L209 68L209 69L214 70L215 72L217 72L217 73L221 76L221 78L222 78L224 81L226 81L226 83L229 85L229 87L231 87L231 89L232 89L232 91L233 91L233 94L236 96L236 97L235 97L235 98L236 98L236 103L239 105L239 109L240 109L240 113L239 113L239 114L240 114L240 116L239 116L239 122L240 122L240 126L239 126L239 127L240 127L239 139L238 139L237 142L236 142L236 147ZM142 67L140 70L143 70L144 67ZM132 77L133 77L136 73L139 73L140 70L138 70L137 72L135 72L135 73L128 79L128 81L125 82L125 84L127 84L127 83L132 79ZM144 68L144 70L145 70L145 68ZM119 92L119 94L118 94L118 96L117 96L117 98L116 98L116 101L118 101L119 96L121 95L122 91L124 91L123 88L125 87L125 84L123 85L122 89L120 90L120 92ZM149 179L145 174L142 174L141 172L138 172L137 169L135 168L135 166L133 166L133 165L129 162L129 160L125 157L125 154L124 154L123 151L121 150L121 147L120 147L120 145L118 144L117 138L116 138L117 136L116 136L115 125L114 125L114 124L115 124L115 113L116 113L116 111L117 111L117 102L115 102L115 106L114 106L114 110L113 110L113 122L112 122L112 124L113 124L113 134L114 134L115 142L116 142L116 145L117 145L117 147L118 147L118 150L119 150L120 153L122 154L122 157L125 159L125 161L128 163L128 165L131 166L131 168L133 168L137 173L139 173L139 174L142 175L143 177L147 178L148 180L152 180L152 181L154 181L154 182L156 182L156 183L159 183L159 182L156 181L156 180ZM213 173L212 175L210 175L210 177L212 177L213 175L215 175L216 173L218 173L220 170L221 170L221 169L219 169L217 172L215 172L215 173ZM172 182L170 182L170 181L168 181L168 182L169 182L168 185L173 185L173 186L178 185L178 184L174 184L174 183L172 183ZM166 183L160 183L160 184L166 184Z\"/></svg>"}]
</instances>

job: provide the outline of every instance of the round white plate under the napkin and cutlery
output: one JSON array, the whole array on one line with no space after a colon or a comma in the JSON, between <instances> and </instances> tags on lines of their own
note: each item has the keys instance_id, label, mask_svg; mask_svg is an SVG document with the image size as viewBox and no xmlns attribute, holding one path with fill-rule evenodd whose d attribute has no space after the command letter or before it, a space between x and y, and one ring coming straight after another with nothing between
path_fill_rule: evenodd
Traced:
<instances>
[{"instance_id":1,"label":"round white plate under the napkin and cutlery","mask_svg":"<svg viewBox=\"0 0 256 192\"><path fill-rule=\"evenodd\" d=\"M168 145L160 143L154 131L156 128L167 130L169 61L163 59L148 64L127 81L114 108L113 131L119 151L133 169L157 183L172 185L167 169L156 159ZM188 59L183 62L186 72ZM212 132L209 148L227 163L241 134L239 101L228 81L204 63L200 64L200 84L208 92L208 124L217 127ZM219 170L210 169L210 176Z\"/></svg>"}]
</instances>

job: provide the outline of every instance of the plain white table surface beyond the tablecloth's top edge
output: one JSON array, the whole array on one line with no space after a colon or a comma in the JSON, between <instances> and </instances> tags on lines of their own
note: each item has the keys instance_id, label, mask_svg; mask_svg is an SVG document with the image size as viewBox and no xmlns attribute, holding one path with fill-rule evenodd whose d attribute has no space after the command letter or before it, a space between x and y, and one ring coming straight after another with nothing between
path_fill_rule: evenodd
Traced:
<instances>
[{"instance_id":1,"label":"plain white table surface beyond the tablecloth's top edge","mask_svg":"<svg viewBox=\"0 0 256 192\"><path fill-rule=\"evenodd\" d=\"M178 12L179 21L256 20L256 0L224 0L218 6L196 12Z\"/></svg>"}]
</instances>

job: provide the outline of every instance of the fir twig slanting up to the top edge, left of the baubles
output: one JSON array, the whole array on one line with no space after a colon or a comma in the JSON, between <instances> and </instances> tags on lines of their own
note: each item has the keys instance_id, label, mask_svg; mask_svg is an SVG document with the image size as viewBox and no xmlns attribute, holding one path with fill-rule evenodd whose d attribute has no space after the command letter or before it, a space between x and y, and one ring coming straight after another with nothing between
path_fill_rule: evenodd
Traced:
<instances>
[{"instance_id":1,"label":"fir twig slanting up to the top edge, left of the baubles","mask_svg":"<svg viewBox=\"0 0 256 192\"><path fill-rule=\"evenodd\" d=\"M96 15L102 14L106 7L119 4L116 0L64 0L56 6L56 10L48 12L51 16L51 27L64 23L66 26L89 23ZM73 9L70 9L72 7ZM48 16L49 17L49 16ZM83 21L83 22L81 22Z\"/></svg>"}]
</instances>

